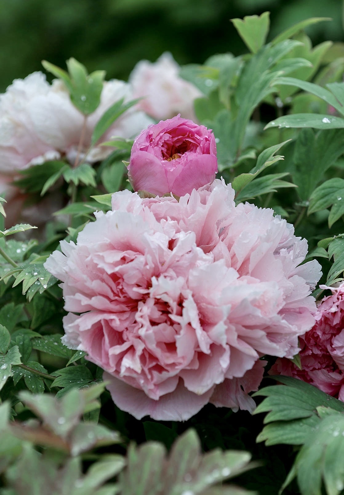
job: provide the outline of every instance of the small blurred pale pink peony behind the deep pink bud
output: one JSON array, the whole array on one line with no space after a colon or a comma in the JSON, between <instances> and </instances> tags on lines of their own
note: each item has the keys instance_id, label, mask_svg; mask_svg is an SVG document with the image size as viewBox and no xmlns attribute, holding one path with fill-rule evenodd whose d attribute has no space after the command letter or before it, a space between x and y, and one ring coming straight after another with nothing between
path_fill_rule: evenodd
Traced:
<instances>
[{"instance_id":1,"label":"small blurred pale pink peony behind the deep pink bud","mask_svg":"<svg viewBox=\"0 0 344 495\"><path fill-rule=\"evenodd\" d=\"M129 76L134 98L143 98L139 106L156 120L180 113L195 120L193 101L204 96L193 84L179 77L179 65L169 52L156 62L139 61Z\"/></svg>"}]
</instances>

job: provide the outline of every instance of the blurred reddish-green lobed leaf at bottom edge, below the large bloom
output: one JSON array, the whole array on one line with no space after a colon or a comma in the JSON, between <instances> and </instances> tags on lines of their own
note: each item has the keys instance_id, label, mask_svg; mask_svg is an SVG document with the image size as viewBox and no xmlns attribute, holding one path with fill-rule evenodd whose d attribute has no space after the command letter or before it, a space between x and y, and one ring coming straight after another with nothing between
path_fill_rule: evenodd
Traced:
<instances>
[{"instance_id":1,"label":"blurred reddish-green lobed leaf at bottom edge, below the large bloom","mask_svg":"<svg viewBox=\"0 0 344 495\"><path fill-rule=\"evenodd\" d=\"M128 466L119 480L126 495L162 493L162 488L169 495L232 494L236 492L230 485L214 485L254 467L249 464L249 452L215 449L202 454L191 429L174 442L169 457L162 444L148 442L129 446L127 458Z\"/></svg>"}]
</instances>

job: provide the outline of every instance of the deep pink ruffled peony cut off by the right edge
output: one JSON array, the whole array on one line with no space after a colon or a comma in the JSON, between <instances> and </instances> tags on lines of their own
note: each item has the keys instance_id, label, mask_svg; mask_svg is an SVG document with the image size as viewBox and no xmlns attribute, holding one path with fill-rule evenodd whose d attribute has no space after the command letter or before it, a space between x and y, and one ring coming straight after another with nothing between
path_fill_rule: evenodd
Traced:
<instances>
[{"instance_id":1,"label":"deep pink ruffled peony cut off by the right edge","mask_svg":"<svg viewBox=\"0 0 344 495\"><path fill-rule=\"evenodd\" d=\"M315 325L300 337L302 369L277 359L270 374L287 375L315 385L344 402L344 283L331 289L315 313Z\"/></svg>"}]
</instances>

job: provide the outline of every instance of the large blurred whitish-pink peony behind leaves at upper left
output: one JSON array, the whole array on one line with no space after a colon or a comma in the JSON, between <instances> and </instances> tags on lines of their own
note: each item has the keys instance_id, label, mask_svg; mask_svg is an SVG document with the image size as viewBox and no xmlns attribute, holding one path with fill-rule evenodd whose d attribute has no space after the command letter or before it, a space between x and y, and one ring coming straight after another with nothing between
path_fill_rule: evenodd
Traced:
<instances>
[{"instance_id":1,"label":"large blurred whitish-pink peony behind leaves at upper left","mask_svg":"<svg viewBox=\"0 0 344 495\"><path fill-rule=\"evenodd\" d=\"M80 141L81 158L90 146L96 122L121 98L132 99L129 84L117 80L105 82L100 105L85 120L72 104L64 84L59 80L48 84L41 72L14 80L0 95L0 195L8 201L5 205L8 220L18 219L18 205L23 202L20 191L9 186L18 172L61 157L74 164ZM135 137L151 123L147 115L132 107L115 121L100 143L111 136ZM87 161L103 159L112 151L110 147L98 146L100 143L88 153ZM33 220L42 219L38 216Z\"/></svg>"}]
</instances>

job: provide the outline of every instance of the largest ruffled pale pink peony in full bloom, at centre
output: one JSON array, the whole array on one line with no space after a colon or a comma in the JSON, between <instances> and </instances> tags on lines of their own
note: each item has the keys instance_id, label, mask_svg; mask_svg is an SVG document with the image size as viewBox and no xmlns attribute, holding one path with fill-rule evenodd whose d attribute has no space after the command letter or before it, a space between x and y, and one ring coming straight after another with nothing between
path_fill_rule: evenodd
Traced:
<instances>
[{"instance_id":1,"label":"largest ruffled pale pink peony in full bloom, at centre","mask_svg":"<svg viewBox=\"0 0 344 495\"><path fill-rule=\"evenodd\" d=\"M270 209L235 206L219 180L179 202L115 193L112 208L44 265L63 282L64 344L106 371L136 418L253 410L260 357L294 356L315 321L306 241Z\"/></svg>"}]
</instances>

